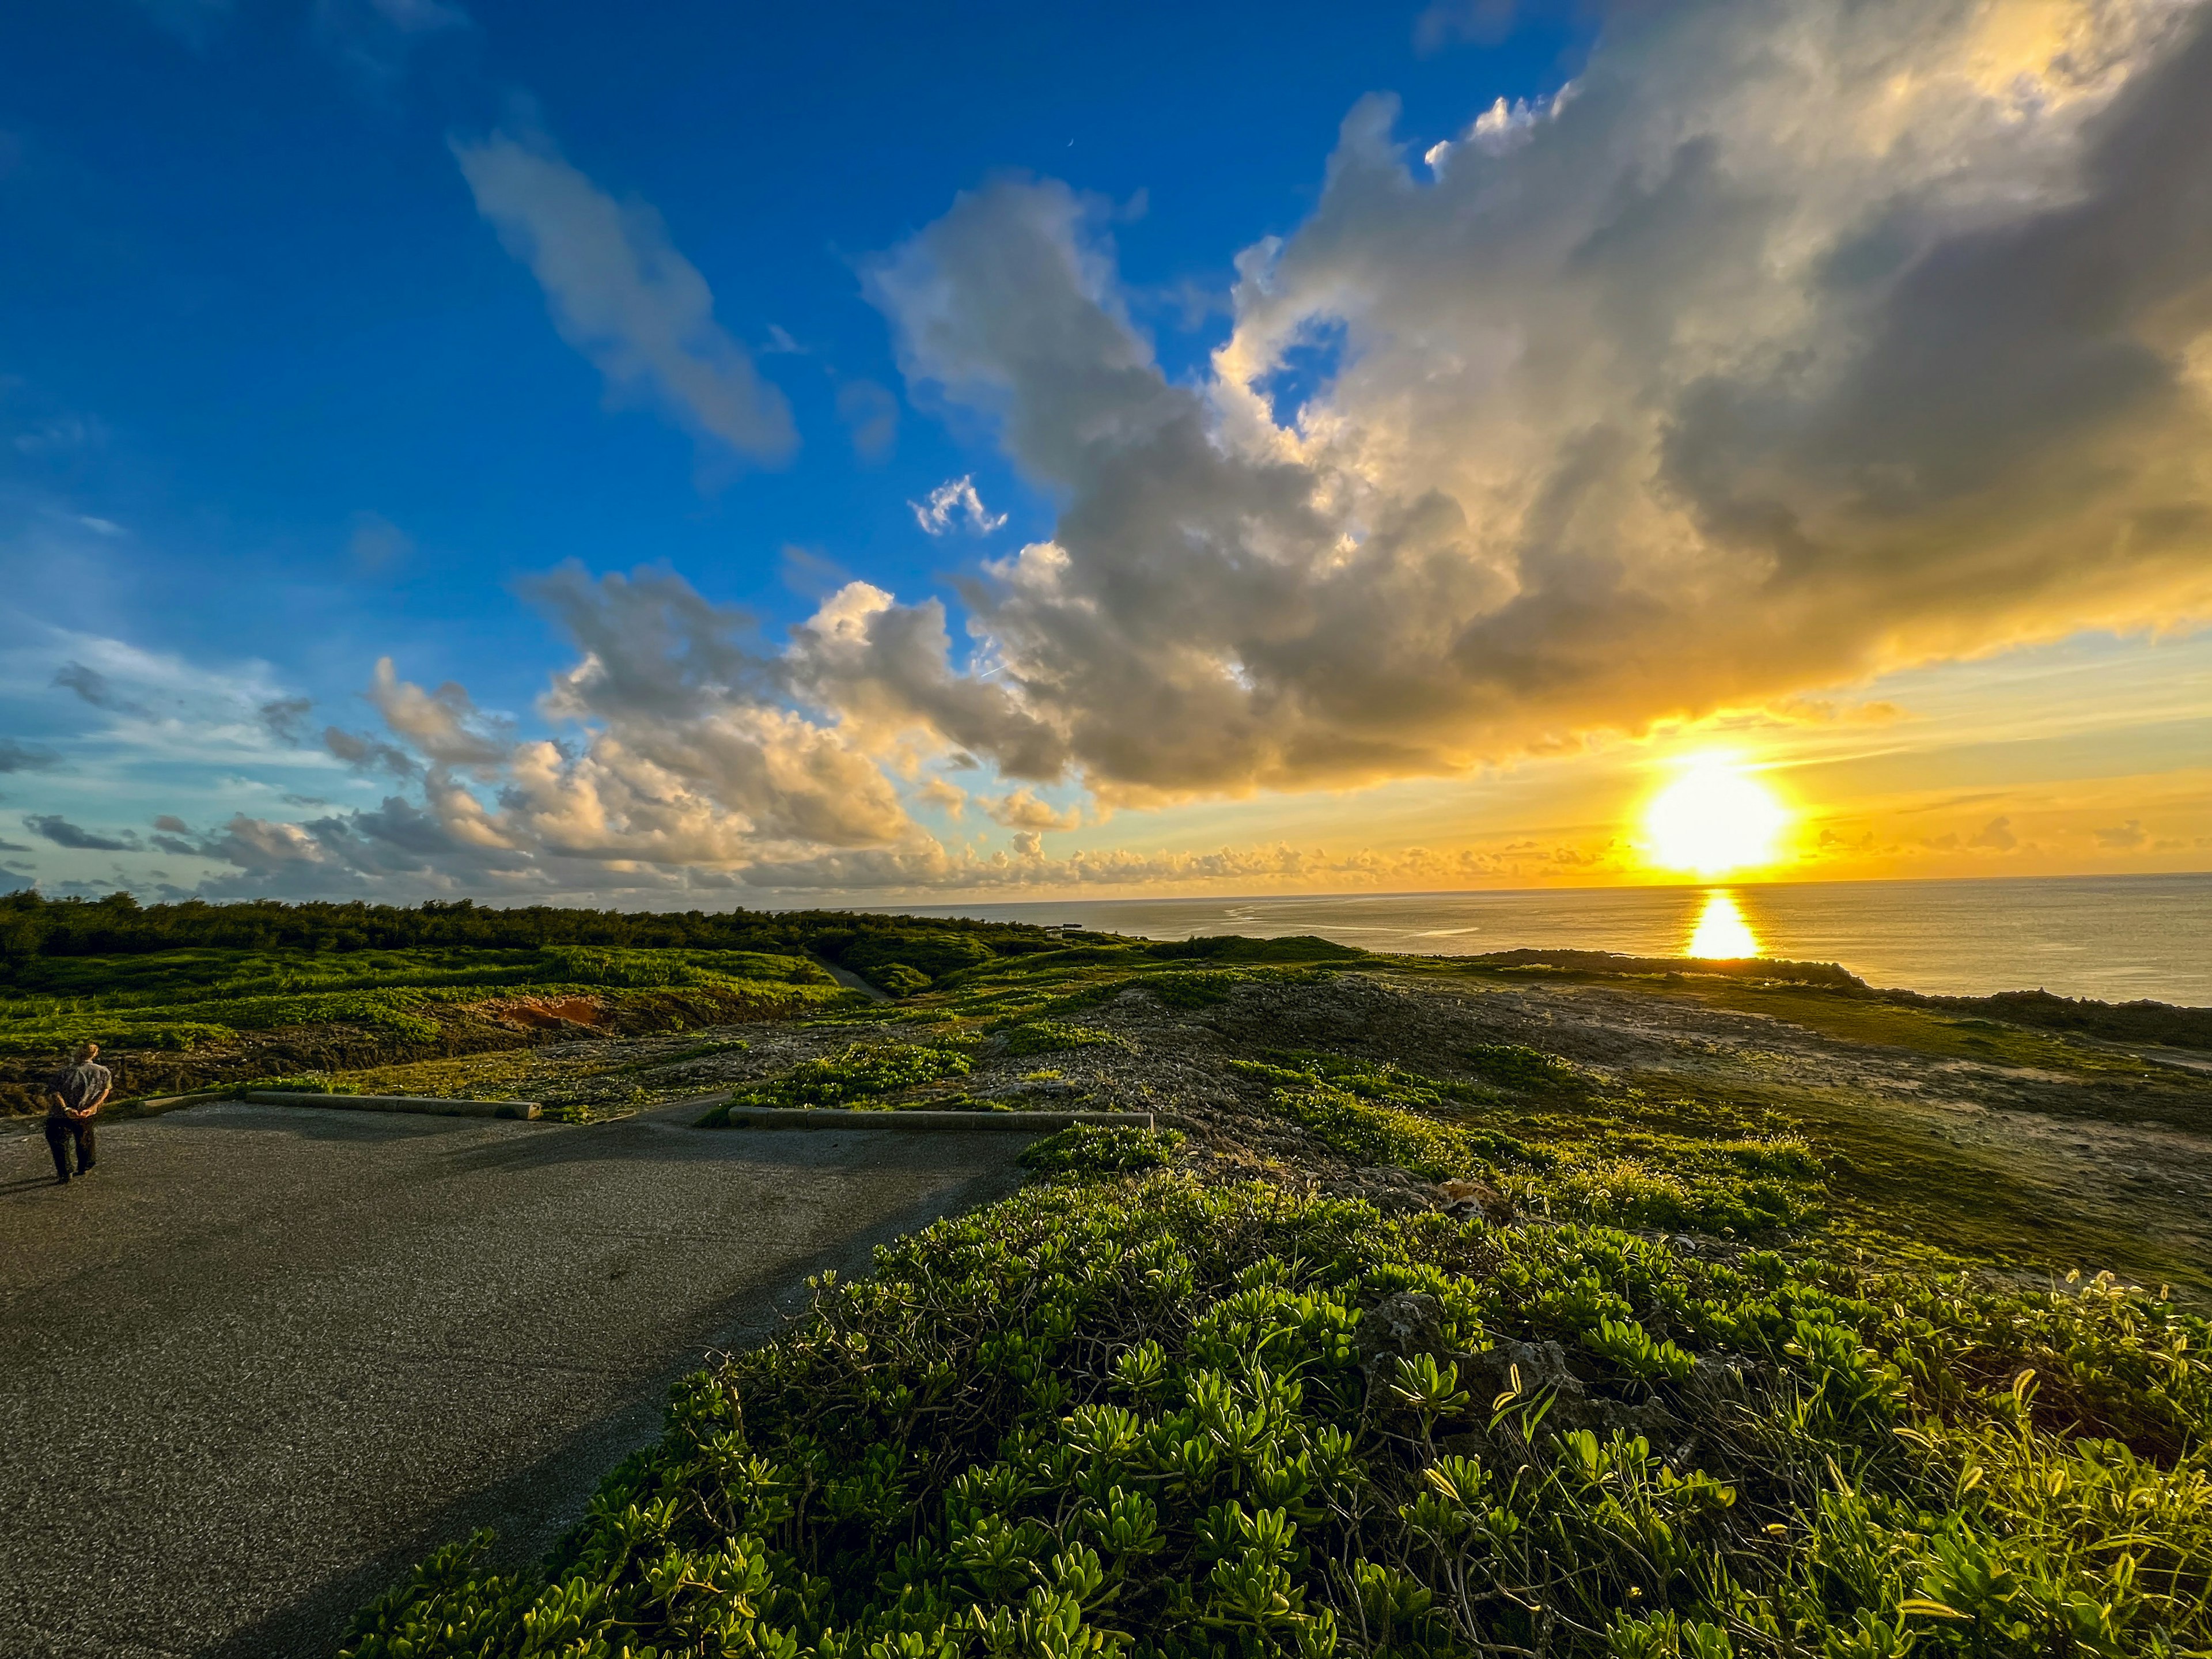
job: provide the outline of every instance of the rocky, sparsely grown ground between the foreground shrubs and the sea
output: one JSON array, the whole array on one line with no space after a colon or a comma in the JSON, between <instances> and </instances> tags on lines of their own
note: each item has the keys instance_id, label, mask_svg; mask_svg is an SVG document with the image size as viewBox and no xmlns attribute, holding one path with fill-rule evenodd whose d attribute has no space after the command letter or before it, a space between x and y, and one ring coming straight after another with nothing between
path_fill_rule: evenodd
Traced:
<instances>
[{"instance_id":1,"label":"rocky, sparsely grown ground between the foreground shrubs and the sea","mask_svg":"<svg viewBox=\"0 0 2212 1659\"><path fill-rule=\"evenodd\" d=\"M1765 995L1765 1002L1761 1002ZM1712 1113L1792 1126L1827 1161L1840 1225L2026 1270L2112 1267L2212 1294L2212 1071L2203 1055L1843 1002L1803 987L1471 975L1380 964L1234 984L1210 1006L1128 987L1066 1022L1108 1042L1009 1053L993 1022L940 1006L874 1018L745 1024L681 1035L580 1037L520 1053L345 1073L367 1091L540 1099L573 1117L745 1088L852 1044L956 1042L967 1077L885 1106L1175 1113L1221 1172L1436 1201L1433 1183L1360 1168L1270 1106L1230 1062L1329 1053L1440 1082L1482 1084L1469 1055L1522 1044L1590 1082L1584 1119L1688 1124ZM1004 1020L995 1022L1004 1026ZM2146 1057L2146 1053L2150 1057ZM1467 1108L1522 1135L1568 1124L1557 1104Z\"/></svg>"}]
</instances>

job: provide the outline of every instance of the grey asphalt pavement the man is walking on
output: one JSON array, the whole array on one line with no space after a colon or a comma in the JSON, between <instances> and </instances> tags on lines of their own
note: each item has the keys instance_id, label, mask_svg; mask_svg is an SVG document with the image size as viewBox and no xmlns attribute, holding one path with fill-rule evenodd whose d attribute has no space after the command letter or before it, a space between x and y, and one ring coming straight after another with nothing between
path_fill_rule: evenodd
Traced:
<instances>
[{"instance_id":1,"label":"grey asphalt pavement the man is walking on","mask_svg":"<svg viewBox=\"0 0 2212 1659\"><path fill-rule=\"evenodd\" d=\"M471 1526L542 1551L666 1383L1013 1186L1015 1135L195 1106L0 1130L0 1655L330 1652Z\"/></svg>"}]
</instances>

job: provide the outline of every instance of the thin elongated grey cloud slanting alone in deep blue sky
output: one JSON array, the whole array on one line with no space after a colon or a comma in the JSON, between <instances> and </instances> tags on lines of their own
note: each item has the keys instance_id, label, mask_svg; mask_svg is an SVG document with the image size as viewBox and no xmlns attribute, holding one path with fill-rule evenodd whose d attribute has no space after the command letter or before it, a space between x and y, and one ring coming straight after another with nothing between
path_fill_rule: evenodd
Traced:
<instances>
[{"instance_id":1,"label":"thin elongated grey cloud slanting alone in deep blue sky","mask_svg":"<svg viewBox=\"0 0 2212 1659\"><path fill-rule=\"evenodd\" d=\"M648 204L615 201L535 133L451 139L507 250L544 288L560 336L615 403L650 403L701 445L761 462L799 447L792 411L714 321L706 276Z\"/></svg>"}]
</instances>

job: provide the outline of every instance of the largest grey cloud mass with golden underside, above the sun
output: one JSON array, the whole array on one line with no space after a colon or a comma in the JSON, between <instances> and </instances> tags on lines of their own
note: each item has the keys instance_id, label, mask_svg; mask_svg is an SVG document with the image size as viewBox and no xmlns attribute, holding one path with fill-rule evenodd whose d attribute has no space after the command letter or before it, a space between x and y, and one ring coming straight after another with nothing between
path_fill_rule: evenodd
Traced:
<instances>
[{"instance_id":1,"label":"largest grey cloud mass with golden underside, above the sun","mask_svg":"<svg viewBox=\"0 0 2212 1659\"><path fill-rule=\"evenodd\" d=\"M1104 204L962 195L865 292L1064 511L962 593L971 668L883 595L818 697L1157 803L2212 615L2212 11L2000 13L1624 9L1436 179L1365 100L1197 385Z\"/></svg>"}]
</instances>

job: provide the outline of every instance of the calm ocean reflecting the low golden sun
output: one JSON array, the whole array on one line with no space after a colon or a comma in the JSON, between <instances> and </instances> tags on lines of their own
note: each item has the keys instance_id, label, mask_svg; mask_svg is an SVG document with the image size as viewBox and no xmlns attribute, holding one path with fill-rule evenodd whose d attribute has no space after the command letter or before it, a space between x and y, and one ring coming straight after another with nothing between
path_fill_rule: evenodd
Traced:
<instances>
[{"instance_id":1,"label":"calm ocean reflecting the low golden sun","mask_svg":"<svg viewBox=\"0 0 2212 1659\"><path fill-rule=\"evenodd\" d=\"M2055 991L2212 1006L2212 874L2039 880L1732 883L1296 898L1055 898L914 905L918 916L1106 933L1318 933L1369 951L1781 956L1949 995ZM1750 947L1750 949L1745 949Z\"/></svg>"}]
</instances>

